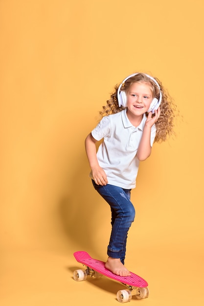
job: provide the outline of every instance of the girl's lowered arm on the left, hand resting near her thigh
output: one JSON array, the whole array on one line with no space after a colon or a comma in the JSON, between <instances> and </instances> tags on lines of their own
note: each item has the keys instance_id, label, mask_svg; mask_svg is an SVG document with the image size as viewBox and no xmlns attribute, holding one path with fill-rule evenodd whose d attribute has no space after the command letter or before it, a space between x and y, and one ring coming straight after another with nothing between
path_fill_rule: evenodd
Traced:
<instances>
[{"instance_id":1,"label":"girl's lowered arm on the left, hand resting near her thigh","mask_svg":"<svg viewBox=\"0 0 204 306\"><path fill-rule=\"evenodd\" d=\"M108 184L108 179L105 174L105 171L99 166L98 159L96 156L96 144L97 140L93 138L91 133L87 136L85 140L85 148L89 164L91 167L92 175L94 182L97 185L106 185Z\"/></svg>"}]
</instances>

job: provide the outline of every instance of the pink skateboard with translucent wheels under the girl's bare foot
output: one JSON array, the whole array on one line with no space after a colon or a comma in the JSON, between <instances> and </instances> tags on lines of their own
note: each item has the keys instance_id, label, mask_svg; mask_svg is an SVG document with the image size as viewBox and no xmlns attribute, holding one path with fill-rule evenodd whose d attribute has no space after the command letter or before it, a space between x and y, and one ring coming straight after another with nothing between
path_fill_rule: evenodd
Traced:
<instances>
[{"instance_id":1,"label":"pink skateboard with translucent wheels under the girl's bare foot","mask_svg":"<svg viewBox=\"0 0 204 306\"><path fill-rule=\"evenodd\" d=\"M86 269L74 271L73 278L75 281L85 281L87 279L87 275L90 275L92 278L99 278L102 274L127 286L127 289L119 290L117 292L118 302L130 302L133 295L137 299L144 299L148 297L148 284L138 275L132 272L131 276L124 277L115 275L105 268L105 262L91 258L91 256L84 251L75 252L74 257L77 262L80 262L86 266Z\"/></svg>"}]
</instances>

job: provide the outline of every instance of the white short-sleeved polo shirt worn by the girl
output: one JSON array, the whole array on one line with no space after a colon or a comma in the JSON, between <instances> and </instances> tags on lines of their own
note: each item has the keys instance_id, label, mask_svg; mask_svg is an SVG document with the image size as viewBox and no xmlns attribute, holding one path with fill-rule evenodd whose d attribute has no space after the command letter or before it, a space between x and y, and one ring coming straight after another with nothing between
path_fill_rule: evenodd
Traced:
<instances>
[{"instance_id":1,"label":"white short-sleeved polo shirt worn by the girl","mask_svg":"<svg viewBox=\"0 0 204 306\"><path fill-rule=\"evenodd\" d=\"M101 119L91 134L96 140L103 142L98 148L97 158L100 167L105 171L108 183L124 189L136 187L136 176L139 160L136 157L142 137L145 114L138 127L129 121L126 109ZM151 146L156 135L156 126L151 129ZM92 177L92 173L90 173Z\"/></svg>"}]
</instances>

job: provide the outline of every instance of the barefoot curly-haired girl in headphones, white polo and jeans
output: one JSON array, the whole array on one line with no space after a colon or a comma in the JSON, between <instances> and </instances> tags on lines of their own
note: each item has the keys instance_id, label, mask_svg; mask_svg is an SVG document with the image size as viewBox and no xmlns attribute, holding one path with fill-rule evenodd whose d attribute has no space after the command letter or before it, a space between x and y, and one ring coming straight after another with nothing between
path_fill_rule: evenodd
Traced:
<instances>
[{"instance_id":1,"label":"barefoot curly-haired girl in headphones, white polo and jeans","mask_svg":"<svg viewBox=\"0 0 204 306\"><path fill-rule=\"evenodd\" d=\"M135 219L130 194L136 187L139 162L150 156L154 141L165 141L173 133L174 110L158 79L132 74L115 86L100 112L101 121L85 140L93 186L111 207L106 268L116 275L130 275L124 260L128 230Z\"/></svg>"}]
</instances>

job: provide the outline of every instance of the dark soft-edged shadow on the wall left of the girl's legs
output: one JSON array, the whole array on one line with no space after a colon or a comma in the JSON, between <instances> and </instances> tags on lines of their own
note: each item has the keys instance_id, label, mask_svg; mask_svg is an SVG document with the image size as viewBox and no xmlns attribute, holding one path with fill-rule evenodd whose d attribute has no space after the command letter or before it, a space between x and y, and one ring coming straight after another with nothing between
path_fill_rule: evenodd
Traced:
<instances>
[{"instance_id":1,"label":"dark soft-edged shadow on the wall left of the girl's legs","mask_svg":"<svg viewBox=\"0 0 204 306\"><path fill-rule=\"evenodd\" d=\"M59 204L59 216L73 245L93 254L96 251L94 234L100 222L98 213L104 202L92 186L90 168L84 166L86 163L85 157L77 161L75 174L67 186L68 193Z\"/></svg>"}]
</instances>

